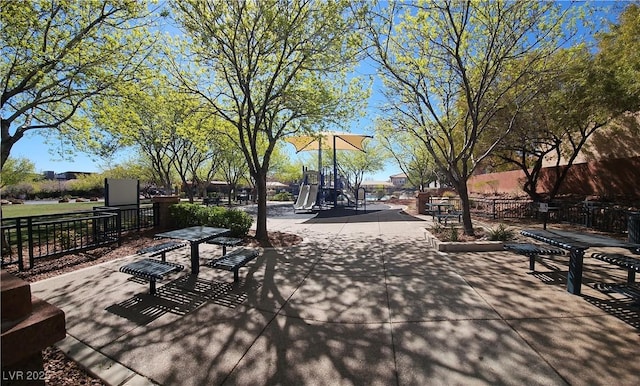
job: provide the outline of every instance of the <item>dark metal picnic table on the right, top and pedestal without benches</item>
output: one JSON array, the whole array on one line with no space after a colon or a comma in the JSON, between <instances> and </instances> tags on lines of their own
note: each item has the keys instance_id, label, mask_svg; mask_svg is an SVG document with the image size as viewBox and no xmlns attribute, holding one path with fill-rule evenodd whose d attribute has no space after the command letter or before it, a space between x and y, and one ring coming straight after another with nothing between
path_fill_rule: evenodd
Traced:
<instances>
[{"instance_id":1,"label":"dark metal picnic table on the right, top and pedestal without benches","mask_svg":"<svg viewBox=\"0 0 640 386\"><path fill-rule=\"evenodd\" d=\"M531 237L535 240L569 251L567 291L574 295L580 295L585 250L592 247L616 247L625 248L632 253L640 254L640 244L628 243L601 235L548 229L525 229L520 233L524 236Z\"/></svg>"}]
</instances>

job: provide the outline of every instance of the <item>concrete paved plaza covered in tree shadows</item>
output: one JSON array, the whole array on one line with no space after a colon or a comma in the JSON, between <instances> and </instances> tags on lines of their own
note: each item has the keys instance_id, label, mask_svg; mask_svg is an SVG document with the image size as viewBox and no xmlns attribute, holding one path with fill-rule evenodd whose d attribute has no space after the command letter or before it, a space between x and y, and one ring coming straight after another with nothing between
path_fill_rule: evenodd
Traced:
<instances>
[{"instance_id":1,"label":"concrete paved plaza covered in tree shadows","mask_svg":"<svg viewBox=\"0 0 640 386\"><path fill-rule=\"evenodd\" d=\"M428 217L399 212L278 213L269 229L304 241L264 250L238 286L187 269L152 297L118 272L132 256L31 288L65 311L63 350L112 385L638 383L640 310L589 285L625 271L585 259L574 296L564 258L531 274L511 253L439 253Z\"/></svg>"}]
</instances>

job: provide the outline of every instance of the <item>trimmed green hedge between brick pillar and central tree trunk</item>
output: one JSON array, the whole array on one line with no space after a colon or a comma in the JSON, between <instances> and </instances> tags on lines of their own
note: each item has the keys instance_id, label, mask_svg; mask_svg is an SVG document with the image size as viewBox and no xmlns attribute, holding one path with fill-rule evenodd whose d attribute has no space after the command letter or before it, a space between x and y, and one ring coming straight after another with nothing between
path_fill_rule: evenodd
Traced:
<instances>
[{"instance_id":1,"label":"trimmed green hedge between brick pillar and central tree trunk","mask_svg":"<svg viewBox=\"0 0 640 386\"><path fill-rule=\"evenodd\" d=\"M228 228L231 229L230 236L233 237L246 236L253 223L253 219L247 213L220 206L175 204L169 207L169 213L180 228L197 225Z\"/></svg>"}]
</instances>

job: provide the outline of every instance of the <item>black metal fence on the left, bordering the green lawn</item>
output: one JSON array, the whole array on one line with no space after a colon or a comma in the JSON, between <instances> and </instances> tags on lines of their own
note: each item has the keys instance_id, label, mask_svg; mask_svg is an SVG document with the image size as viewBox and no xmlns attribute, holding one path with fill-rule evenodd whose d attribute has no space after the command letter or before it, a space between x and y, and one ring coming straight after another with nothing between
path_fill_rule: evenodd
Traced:
<instances>
[{"instance_id":1,"label":"black metal fence on the left, bordering the green lawn","mask_svg":"<svg viewBox=\"0 0 640 386\"><path fill-rule=\"evenodd\" d=\"M123 232L154 227L157 220L157 205L2 219L2 266L24 270L40 258L120 243Z\"/></svg>"}]
</instances>

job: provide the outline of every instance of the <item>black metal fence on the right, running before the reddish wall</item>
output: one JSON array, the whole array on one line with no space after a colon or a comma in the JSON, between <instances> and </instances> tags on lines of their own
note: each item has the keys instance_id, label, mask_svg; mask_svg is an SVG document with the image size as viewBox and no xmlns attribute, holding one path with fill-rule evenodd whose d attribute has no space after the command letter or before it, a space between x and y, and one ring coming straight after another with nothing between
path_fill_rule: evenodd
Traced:
<instances>
[{"instance_id":1,"label":"black metal fence on the right, running before the reddish wall","mask_svg":"<svg viewBox=\"0 0 640 386\"><path fill-rule=\"evenodd\" d=\"M449 203L457 210L462 209L458 197L449 198ZM471 198L470 207L472 216L492 220L537 219L542 222L545 216L539 211L539 203L531 200ZM569 223L602 232L625 233L632 213L615 204L559 201L549 204L546 216L549 223Z\"/></svg>"}]
</instances>

